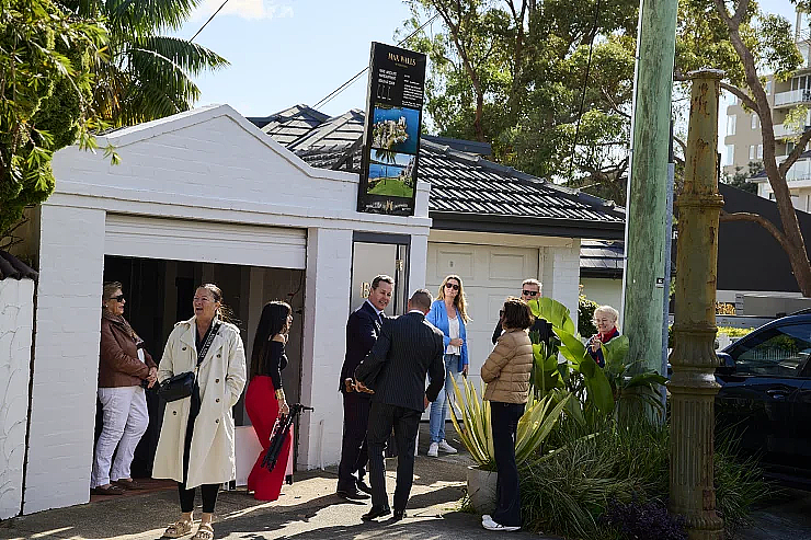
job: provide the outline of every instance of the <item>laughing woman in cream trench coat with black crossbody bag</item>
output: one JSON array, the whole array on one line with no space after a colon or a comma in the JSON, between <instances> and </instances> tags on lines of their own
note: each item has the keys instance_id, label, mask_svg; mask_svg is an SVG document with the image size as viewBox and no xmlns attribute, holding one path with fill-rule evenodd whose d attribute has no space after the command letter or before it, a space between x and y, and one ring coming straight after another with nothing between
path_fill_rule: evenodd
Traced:
<instances>
[{"instance_id":1,"label":"laughing woman in cream trench coat with black crossbody bag","mask_svg":"<svg viewBox=\"0 0 811 540\"><path fill-rule=\"evenodd\" d=\"M192 539L212 540L219 485L236 478L231 407L245 384L245 355L239 329L220 318L221 301L222 292L216 285L197 288L194 317L175 324L158 367L161 382L194 371L197 351L216 332L199 365L199 400L190 397L172 401L163 413L152 476L178 482L182 513L181 519L165 530L167 538L191 532L195 489L199 486L203 514Z\"/></svg>"}]
</instances>

